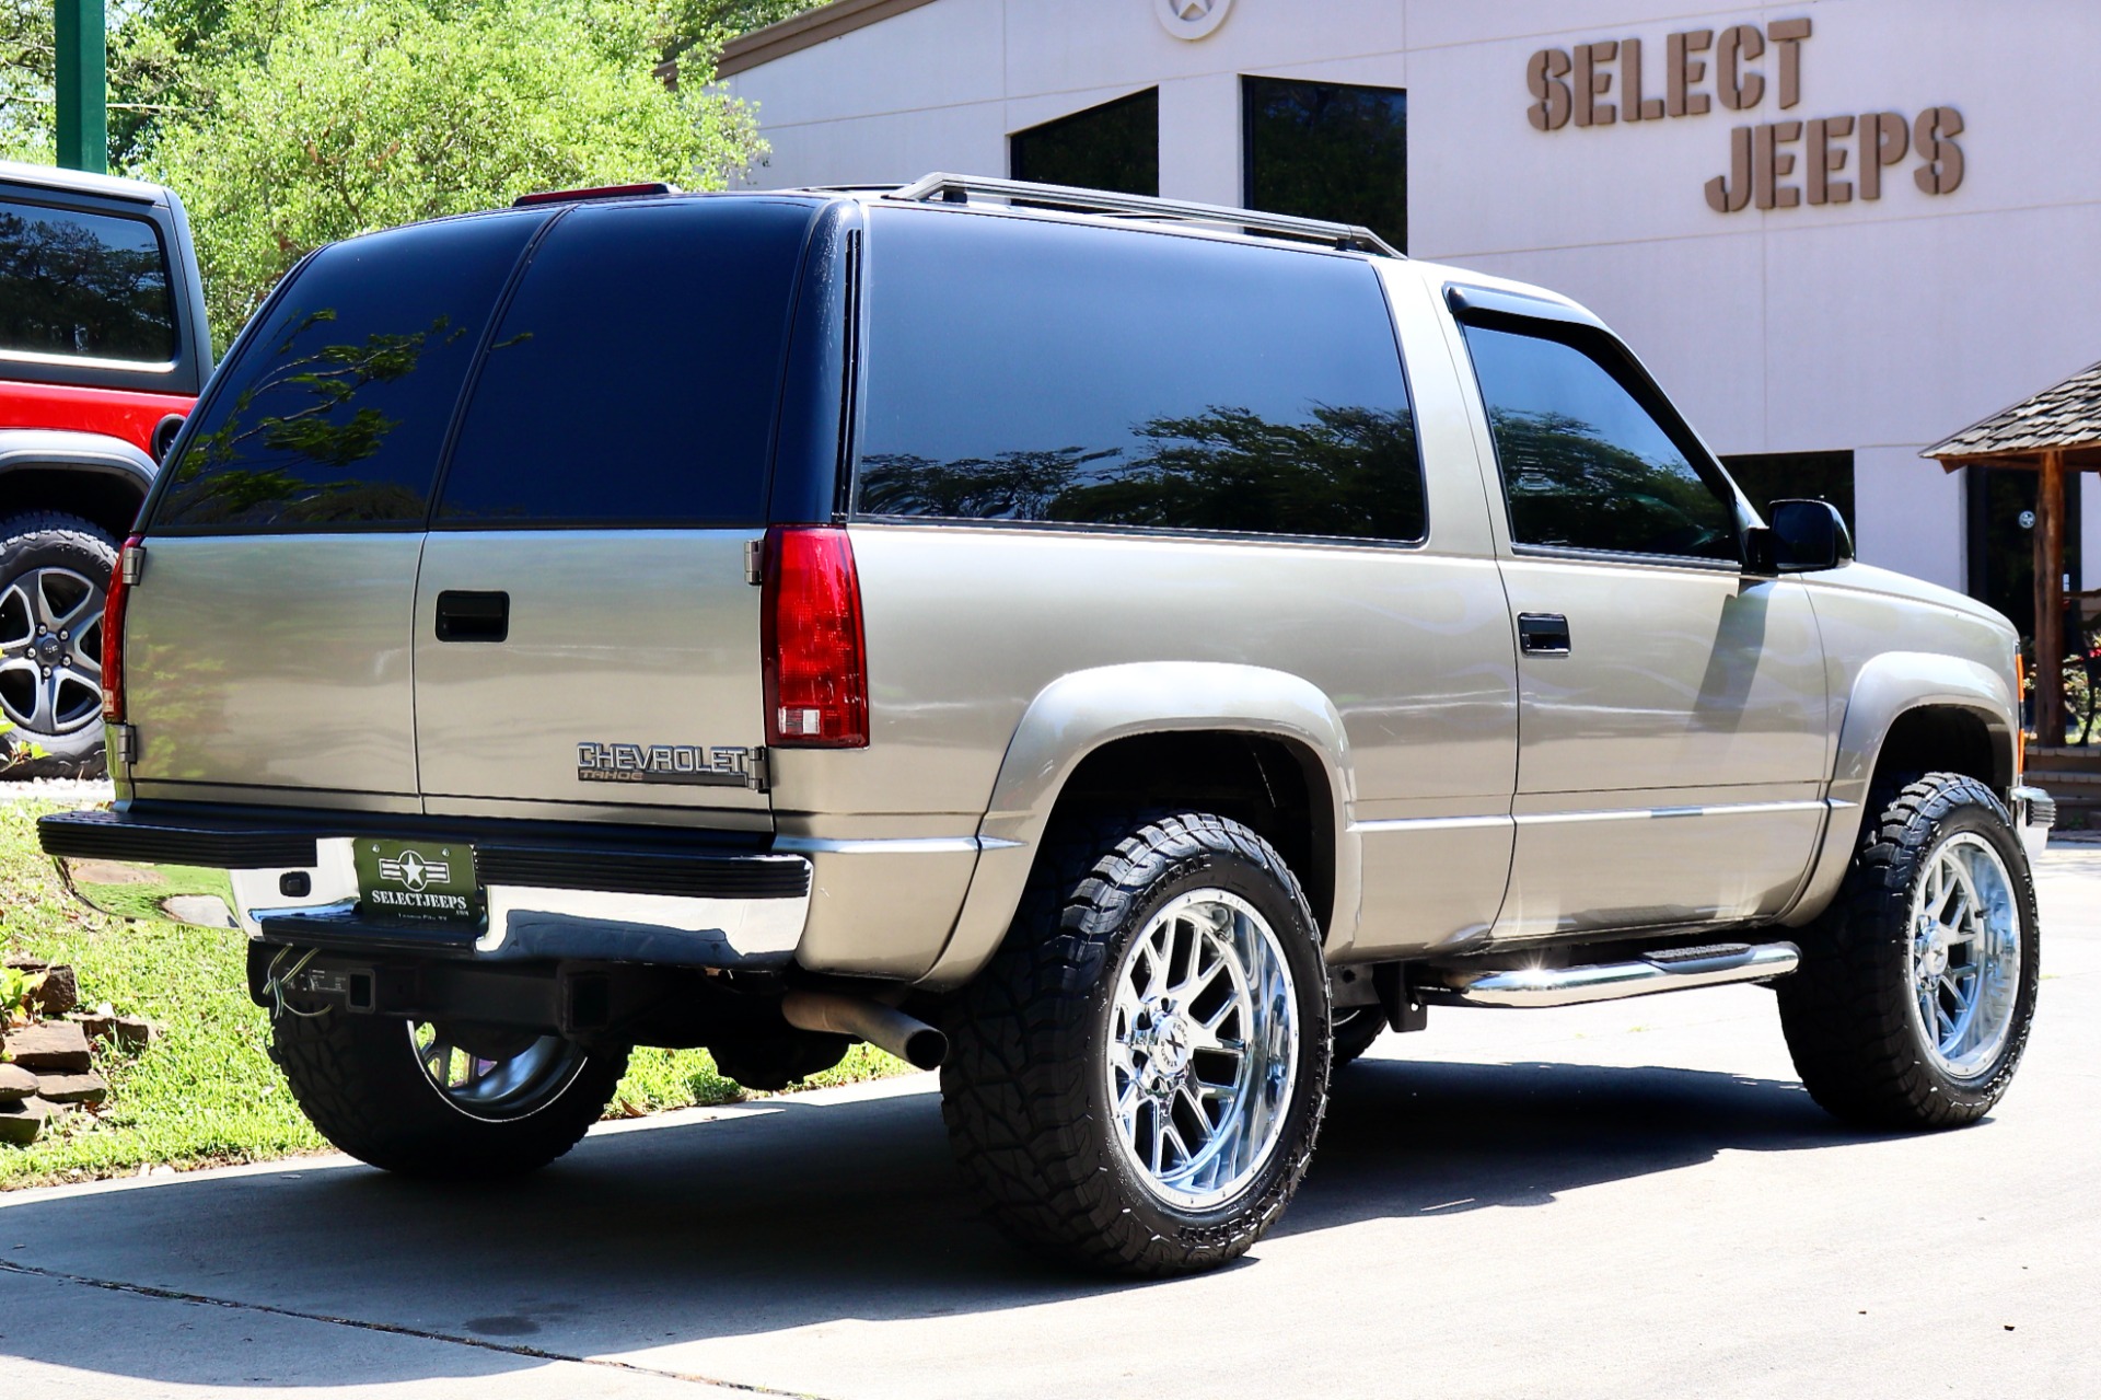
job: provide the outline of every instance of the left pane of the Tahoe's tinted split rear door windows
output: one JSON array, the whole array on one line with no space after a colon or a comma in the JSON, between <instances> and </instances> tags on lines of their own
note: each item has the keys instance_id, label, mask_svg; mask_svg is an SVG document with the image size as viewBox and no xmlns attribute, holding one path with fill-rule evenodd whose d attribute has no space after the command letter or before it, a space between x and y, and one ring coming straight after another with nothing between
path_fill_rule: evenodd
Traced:
<instances>
[{"instance_id":1,"label":"left pane of the Tahoe's tinted split rear door windows","mask_svg":"<svg viewBox=\"0 0 2101 1400\"><path fill-rule=\"evenodd\" d=\"M204 408L155 526L422 526L460 380L546 212L324 248Z\"/></svg>"}]
</instances>

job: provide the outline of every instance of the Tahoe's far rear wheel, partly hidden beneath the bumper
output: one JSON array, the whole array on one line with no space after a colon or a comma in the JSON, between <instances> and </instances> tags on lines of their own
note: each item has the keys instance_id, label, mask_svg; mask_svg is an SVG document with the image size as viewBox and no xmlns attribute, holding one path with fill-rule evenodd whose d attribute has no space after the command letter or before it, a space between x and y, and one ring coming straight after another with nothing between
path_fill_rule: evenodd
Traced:
<instances>
[{"instance_id":1,"label":"Tahoe's far rear wheel, partly hidden beneath the bumper","mask_svg":"<svg viewBox=\"0 0 2101 1400\"><path fill-rule=\"evenodd\" d=\"M546 1167L605 1112L624 1049L498 1026L286 1011L271 1059L351 1156L410 1177L506 1177Z\"/></svg>"}]
</instances>

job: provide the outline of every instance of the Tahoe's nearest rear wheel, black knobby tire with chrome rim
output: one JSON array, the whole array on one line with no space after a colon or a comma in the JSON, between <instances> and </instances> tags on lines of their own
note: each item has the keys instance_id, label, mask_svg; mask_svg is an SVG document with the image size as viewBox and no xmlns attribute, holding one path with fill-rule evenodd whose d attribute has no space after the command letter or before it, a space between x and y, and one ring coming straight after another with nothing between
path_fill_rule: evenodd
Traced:
<instances>
[{"instance_id":1,"label":"Tahoe's nearest rear wheel, black knobby tire with chrome rim","mask_svg":"<svg viewBox=\"0 0 2101 1400\"><path fill-rule=\"evenodd\" d=\"M943 1116L994 1223L1122 1274L1214 1268L1313 1154L1319 925L1237 822L1109 822L1046 853L954 1030Z\"/></svg>"}]
</instances>

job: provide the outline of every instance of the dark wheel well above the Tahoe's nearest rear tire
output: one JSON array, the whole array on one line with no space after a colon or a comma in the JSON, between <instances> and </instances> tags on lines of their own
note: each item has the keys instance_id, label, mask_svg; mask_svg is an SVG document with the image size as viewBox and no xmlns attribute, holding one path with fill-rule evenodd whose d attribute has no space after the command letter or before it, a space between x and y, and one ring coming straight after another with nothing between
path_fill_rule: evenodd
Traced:
<instances>
[{"instance_id":1,"label":"dark wheel well above the Tahoe's nearest rear tire","mask_svg":"<svg viewBox=\"0 0 2101 1400\"><path fill-rule=\"evenodd\" d=\"M1326 933L1334 919L1334 801L1303 744L1269 734L1135 734L1080 761L1050 822L1128 807L1189 807L1242 822L1277 847Z\"/></svg>"}]
</instances>

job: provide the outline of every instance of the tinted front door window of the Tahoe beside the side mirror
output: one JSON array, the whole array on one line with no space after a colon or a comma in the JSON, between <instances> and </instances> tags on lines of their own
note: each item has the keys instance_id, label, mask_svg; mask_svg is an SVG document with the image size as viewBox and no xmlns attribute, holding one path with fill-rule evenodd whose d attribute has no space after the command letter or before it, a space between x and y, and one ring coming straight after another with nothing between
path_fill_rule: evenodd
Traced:
<instances>
[{"instance_id":1,"label":"tinted front door window of the Tahoe beside the side mirror","mask_svg":"<svg viewBox=\"0 0 2101 1400\"><path fill-rule=\"evenodd\" d=\"M1466 328L1517 544L1735 559L1735 511L1597 359Z\"/></svg>"}]
</instances>

